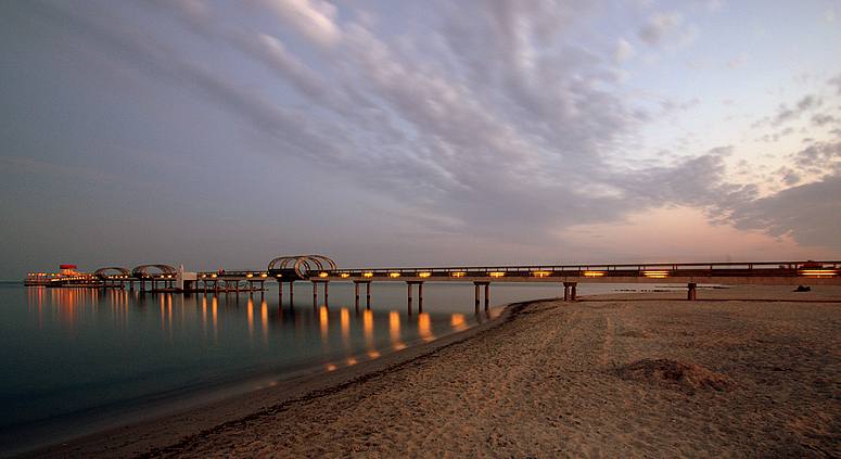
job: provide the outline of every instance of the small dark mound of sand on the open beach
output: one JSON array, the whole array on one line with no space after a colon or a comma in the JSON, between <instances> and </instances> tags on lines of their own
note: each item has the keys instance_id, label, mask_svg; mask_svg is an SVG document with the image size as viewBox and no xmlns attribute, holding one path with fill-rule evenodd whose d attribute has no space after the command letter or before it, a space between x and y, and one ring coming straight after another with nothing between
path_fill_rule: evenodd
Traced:
<instances>
[{"instance_id":1,"label":"small dark mound of sand on the open beach","mask_svg":"<svg viewBox=\"0 0 841 459\"><path fill-rule=\"evenodd\" d=\"M637 360L619 368L616 374L623 380L687 392L695 392L698 388L725 391L736 385L730 378L692 362L662 358Z\"/></svg>"}]
</instances>

